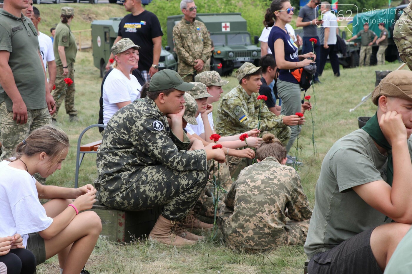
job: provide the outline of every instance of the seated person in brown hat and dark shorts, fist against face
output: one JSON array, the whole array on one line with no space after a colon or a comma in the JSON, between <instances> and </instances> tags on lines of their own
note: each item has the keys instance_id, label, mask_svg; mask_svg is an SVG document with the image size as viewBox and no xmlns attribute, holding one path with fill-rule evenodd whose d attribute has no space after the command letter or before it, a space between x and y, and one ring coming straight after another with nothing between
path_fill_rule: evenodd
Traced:
<instances>
[{"instance_id":1,"label":"seated person in brown hat and dark shorts, fist against face","mask_svg":"<svg viewBox=\"0 0 412 274\"><path fill-rule=\"evenodd\" d=\"M411 227L412 72L389 73L372 102L377 113L323 159L304 246L309 273L382 273Z\"/></svg>"}]
</instances>

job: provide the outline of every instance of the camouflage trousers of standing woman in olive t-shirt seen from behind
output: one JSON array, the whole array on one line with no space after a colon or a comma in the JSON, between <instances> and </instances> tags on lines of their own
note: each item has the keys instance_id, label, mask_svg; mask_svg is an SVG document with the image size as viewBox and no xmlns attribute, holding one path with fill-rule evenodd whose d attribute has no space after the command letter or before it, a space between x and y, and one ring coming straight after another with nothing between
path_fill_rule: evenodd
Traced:
<instances>
[{"instance_id":1,"label":"camouflage trousers of standing woman in olive t-shirt seen from behind","mask_svg":"<svg viewBox=\"0 0 412 274\"><path fill-rule=\"evenodd\" d=\"M59 112L61 103L64 100L64 107L66 108L66 113L69 115L77 115L77 110L75 109L75 69L74 63L67 64L69 73L66 76L63 76L63 65L57 66L56 74L56 89L53 93L54 101L56 101L56 112L54 112L52 118L57 119L57 113ZM70 78L73 80L67 89L66 83L64 82L65 78Z\"/></svg>"}]
</instances>

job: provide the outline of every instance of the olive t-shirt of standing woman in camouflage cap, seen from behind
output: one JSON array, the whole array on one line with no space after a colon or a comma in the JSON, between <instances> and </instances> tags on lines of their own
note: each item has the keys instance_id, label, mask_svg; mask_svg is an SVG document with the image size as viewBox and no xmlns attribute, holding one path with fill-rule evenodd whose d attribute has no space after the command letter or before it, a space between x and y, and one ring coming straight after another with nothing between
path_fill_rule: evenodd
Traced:
<instances>
[{"instance_id":1,"label":"olive t-shirt of standing woman in camouflage cap, seen from behind","mask_svg":"<svg viewBox=\"0 0 412 274\"><path fill-rule=\"evenodd\" d=\"M53 51L56 58L56 65L62 65L59 56L59 46L64 46L67 64L76 62L77 44L75 36L70 30L67 23L59 23L56 26L56 34L54 35Z\"/></svg>"}]
</instances>

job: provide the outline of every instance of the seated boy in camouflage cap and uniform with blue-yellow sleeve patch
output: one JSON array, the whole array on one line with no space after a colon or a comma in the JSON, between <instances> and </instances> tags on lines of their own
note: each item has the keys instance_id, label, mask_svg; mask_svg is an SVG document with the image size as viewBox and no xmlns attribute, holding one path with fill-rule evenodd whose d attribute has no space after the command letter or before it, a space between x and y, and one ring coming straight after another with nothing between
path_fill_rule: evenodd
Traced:
<instances>
[{"instance_id":1,"label":"seated boy in camouflage cap and uniform with blue-yellow sleeve patch","mask_svg":"<svg viewBox=\"0 0 412 274\"><path fill-rule=\"evenodd\" d=\"M262 67L256 67L249 62L244 63L236 71L239 86L220 100L216 132L220 135L236 135L258 128L259 107L261 107L260 130L271 132L286 145L291 133L288 125L283 123L287 116L276 116L269 111L266 104L260 104L257 100L259 88L262 85L261 71Z\"/></svg>"}]
</instances>

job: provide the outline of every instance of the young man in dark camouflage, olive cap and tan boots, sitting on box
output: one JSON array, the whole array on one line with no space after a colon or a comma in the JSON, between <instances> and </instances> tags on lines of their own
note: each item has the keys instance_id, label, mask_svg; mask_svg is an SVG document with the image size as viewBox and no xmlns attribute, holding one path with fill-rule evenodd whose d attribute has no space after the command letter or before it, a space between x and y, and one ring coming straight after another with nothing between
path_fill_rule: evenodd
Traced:
<instances>
[{"instance_id":1,"label":"young man in dark camouflage, olive cap and tan boots, sitting on box","mask_svg":"<svg viewBox=\"0 0 412 274\"><path fill-rule=\"evenodd\" d=\"M207 160L225 162L221 149L186 151L188 138L182 134L182 141L171 131L175 125L169 127L166 115L172 123L180 119L183 132L183 94L191 88L193 85L183 82L173 70L153 75L150 85L142 88L143 99L112 116L96 160L98 178L94 184L99 200L128 211L164 206L149 236L175 246L195 243L177 236L174 232L181 232L181 227L176 228L176 224L206 225L188 214L206 185ZM192 235L191 239L199 238Z\"/></svg>"}]
</instances>

